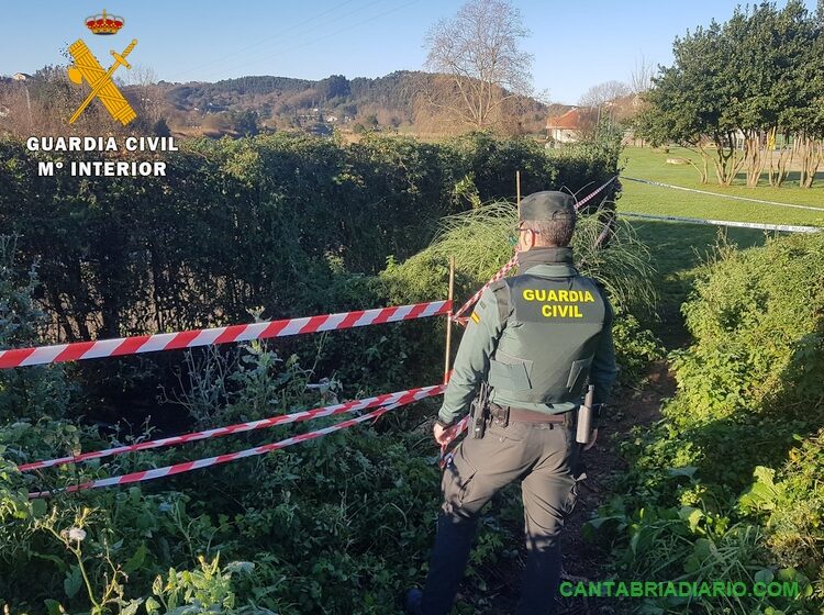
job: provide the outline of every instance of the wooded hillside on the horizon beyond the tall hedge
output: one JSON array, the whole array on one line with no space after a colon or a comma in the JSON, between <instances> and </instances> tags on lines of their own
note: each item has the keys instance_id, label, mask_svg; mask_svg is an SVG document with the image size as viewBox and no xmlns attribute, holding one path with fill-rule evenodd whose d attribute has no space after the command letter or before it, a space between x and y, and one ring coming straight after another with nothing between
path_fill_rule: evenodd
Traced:
<instances>
[{"instance_id":1,"label":"wooded hillside on the horizon beyond the tall hedge","mask_svg":"<svg viewBox=\"0 0 824 615\"><path fill-rule=\"evenodd\" d=\"M126 131L169 130L179 135L241 136L259 131L288 130L316 134L360 133L367 130L439 135L460 126L444 121L425 102L424 92L443 79L428 72L400 70L369 79L332 75L319 81L290 77L240 77L223 81L122 86L137 112ZM49 66L24 80L0 78L0 133L70 133L98 126L105 113L92 104L78 124L66 124L67 110L87 92L71 85L63 66ZM509 134L541 134L549 108L531 98L508 102L501 114ZM116 126L113 130L118 130Z\"/></svg>"}]
</instances>

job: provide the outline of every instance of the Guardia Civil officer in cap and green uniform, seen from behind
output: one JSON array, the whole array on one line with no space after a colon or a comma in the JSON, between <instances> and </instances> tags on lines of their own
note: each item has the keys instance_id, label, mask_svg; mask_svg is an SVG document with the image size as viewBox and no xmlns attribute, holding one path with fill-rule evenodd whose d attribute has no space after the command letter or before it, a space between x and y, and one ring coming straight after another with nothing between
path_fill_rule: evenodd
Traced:
<instances>
[{"instance_id":1,"label":"Guardia Civil officer in cap and green uniform, seen from behind","mask_svg":"<svg viewBox=\"0 0 824 615\"><path fill-rule=\"evenodd\" d=\"M486 429L474 438L470 427L444 471L430 573L423 592L407 594L410 613L450 612L479 513L514 480L521 481L528 551L516 613L555 613L560 530L583 478L575 414L587 383L600 409L617 373L612 308L572 264L575 222L570 195L526 197L516 230L519 275L493 283L468 321L434 433L438 444L452 439L481 384L489 387L487 413L471 425ZM587 448L598 431L592 435Z\"/></svg>"}]
</instances>

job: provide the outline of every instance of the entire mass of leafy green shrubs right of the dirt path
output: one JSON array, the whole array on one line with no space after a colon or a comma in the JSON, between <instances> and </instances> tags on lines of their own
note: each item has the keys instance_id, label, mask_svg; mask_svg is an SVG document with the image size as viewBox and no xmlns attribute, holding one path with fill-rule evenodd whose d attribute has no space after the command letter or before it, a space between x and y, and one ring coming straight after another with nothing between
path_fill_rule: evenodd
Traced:
<instances>
[{"instance_id":1,"label":"entire mass of leafy green shrubs right of the dirt path","mask_svg":"<svg viewBox=\"0 0 824 615\"><path fill-rule=\"evenodd\" d=\"M603 507L592 530L612 528L614 566L650 579L775 575L803 590L790 602L699 602L706 612L817 613L824 234L720 247L683 313L694 339L675 353L677 393L662 421L622 444L631 467L616 491L627 495ZM695 568L699 551L716 563Z\"/></svg>"}]
</instances>

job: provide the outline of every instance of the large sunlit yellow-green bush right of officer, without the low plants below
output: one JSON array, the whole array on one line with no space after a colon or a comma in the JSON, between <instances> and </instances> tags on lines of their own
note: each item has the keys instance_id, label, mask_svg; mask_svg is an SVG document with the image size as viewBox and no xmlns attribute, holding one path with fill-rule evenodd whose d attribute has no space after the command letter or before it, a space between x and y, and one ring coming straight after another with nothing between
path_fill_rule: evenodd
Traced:
<instances>
[{"instance_id":1,"label":"large sunlit yellow-green bush right of officer, without the low plants below","mask_svg":"<svg viewBox=\"0 0 824 615\"><path fill-rule=\"evenodd\" d=\"M824 418L824 235L722 247L683 306L694 343L675 353L676 398L644 441L642 471L694 466L728 497L756 466L780 463L793 434ZM655 441L658 439L659 441ZM630 444L628 447L633 445Z\"/></svg>"}]
</instances>

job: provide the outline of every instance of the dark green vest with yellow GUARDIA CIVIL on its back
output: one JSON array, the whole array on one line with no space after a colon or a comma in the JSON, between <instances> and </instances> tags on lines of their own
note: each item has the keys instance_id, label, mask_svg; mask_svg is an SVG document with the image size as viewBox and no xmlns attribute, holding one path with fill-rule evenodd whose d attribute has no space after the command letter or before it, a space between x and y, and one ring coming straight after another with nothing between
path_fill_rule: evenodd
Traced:
<instances>
[{"instance_id":1,"label":"dark green vest with yellow GUARDIA CIVIL on its back","mask_svg":"<svg viewBox=\"0 0 824 615\"><path fill-rule=\"evenodd\" d=\"M495 396L515 402L577 402L606 318L590 278L543 278L528 272L502 280L508 321L490 361Z\"/></svg>"}]
</instances>

